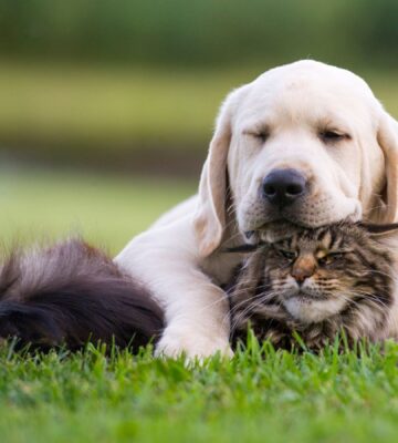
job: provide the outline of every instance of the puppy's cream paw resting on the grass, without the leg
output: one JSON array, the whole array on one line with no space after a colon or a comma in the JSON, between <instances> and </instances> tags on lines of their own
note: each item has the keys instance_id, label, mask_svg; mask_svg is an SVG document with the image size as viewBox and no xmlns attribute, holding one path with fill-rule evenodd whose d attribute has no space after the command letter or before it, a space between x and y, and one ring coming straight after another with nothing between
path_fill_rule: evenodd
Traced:
<instances>
[{"instance_id":1,"label":"puppy's cream paw resting on the grass, without the leg","mask_svg":"<svg viewBox=\"0 0 398 443\"><path fill-rule=\"evenodd\" d=\"M227 338L219 333L205 334L192 328L166 328L161 339L156 346L156 357L178 358L184 354L189 360L202 361L207 357L220 353L231 358L233 352Z\"/></svg>"}]
</instances>

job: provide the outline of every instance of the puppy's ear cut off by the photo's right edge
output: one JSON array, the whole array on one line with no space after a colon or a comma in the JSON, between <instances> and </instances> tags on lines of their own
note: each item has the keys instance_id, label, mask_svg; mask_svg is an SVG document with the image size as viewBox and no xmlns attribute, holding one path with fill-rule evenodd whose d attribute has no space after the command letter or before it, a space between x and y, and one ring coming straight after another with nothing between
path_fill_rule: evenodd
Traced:
<instances>
[{"instance_id":1,"label":"puppy's ear cut off by the photo's right edge","mask_svg":"<svg viewBox=\"0 0 398 443\"><path fill-rule=\"evenodd\" d=\"M377 141L385 156L386 206L380 215L381 223L397 220L398 209L398 123L387 112L381 111Z\"/></svg>"}]
</instances>

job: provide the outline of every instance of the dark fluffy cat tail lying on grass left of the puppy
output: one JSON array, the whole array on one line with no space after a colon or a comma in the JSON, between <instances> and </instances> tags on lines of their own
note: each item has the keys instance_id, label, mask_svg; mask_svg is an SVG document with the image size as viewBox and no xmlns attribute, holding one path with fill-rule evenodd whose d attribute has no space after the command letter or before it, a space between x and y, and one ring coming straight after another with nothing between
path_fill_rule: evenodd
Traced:
<instances>
[{"instance_id":1,"label":"dark fluffy cat tail lying on grass left of the puppy","mask_svg":"<svg viewBox=\"0 0 398 443\"><path fill-rule=\"evenodd\" d=\"M163 327L150 293L80 239L14 251L0 269L0 337L22 346L76 349L101 340L136 350Z\"/></svg>"}]
</instances>

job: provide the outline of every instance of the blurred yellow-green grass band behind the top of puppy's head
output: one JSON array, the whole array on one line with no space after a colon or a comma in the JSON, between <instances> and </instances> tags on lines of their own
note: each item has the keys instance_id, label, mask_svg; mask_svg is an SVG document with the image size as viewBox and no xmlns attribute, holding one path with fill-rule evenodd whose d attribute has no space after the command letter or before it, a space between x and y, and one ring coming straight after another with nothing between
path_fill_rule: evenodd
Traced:
<instances>
[{"instance_id":1,"label":"blurred yellow-green grass band behind the top of puppy's head","mask_svg":"<svg viewBox=\"0 0 398 443\"><path fill-rule=\"evenodd\" d=\"M64 150L200 148L226 94L270 68L221 70L75 66L0 61L0 141ZM395 72L358 70L398 115Z\"/></svg>"}]
</instances>

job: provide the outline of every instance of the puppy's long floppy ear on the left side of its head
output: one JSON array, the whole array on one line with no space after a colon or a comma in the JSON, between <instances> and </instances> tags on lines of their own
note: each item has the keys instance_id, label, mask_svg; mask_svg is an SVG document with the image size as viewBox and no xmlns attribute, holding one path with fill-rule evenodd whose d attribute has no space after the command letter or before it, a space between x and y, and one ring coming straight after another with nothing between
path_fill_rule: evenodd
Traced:
<instances>
[{"instance_id":1,"label":"puppy's long floppy ear on the left side of its head","mask_svg":"<svg viewBox=\"0 0 398 443\"><path fill-rule=\"evenodd\" d=\"M199 183L199 204L193 219L199 254L209 256L221 244L226 228L227 157L232 122L247 86L231 92L221 106Z\"/></svg>"}]
</instances>

